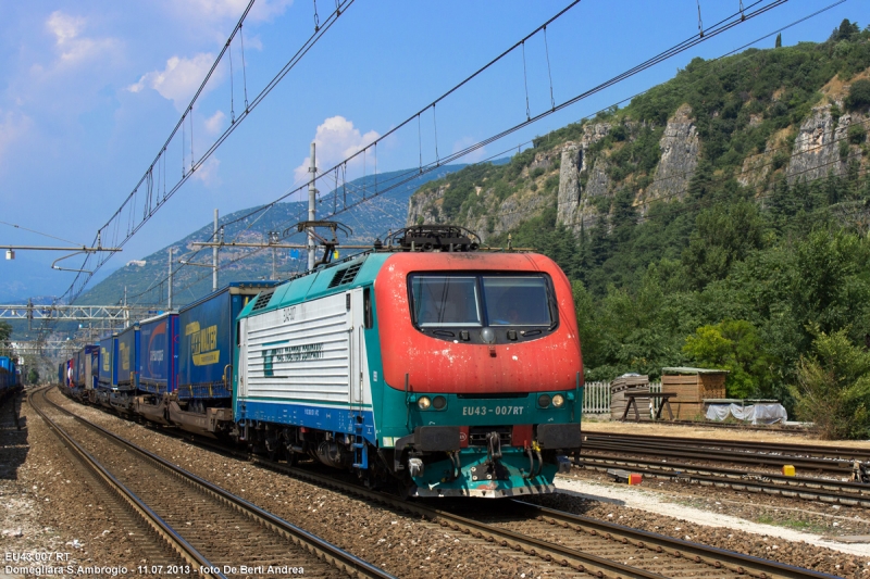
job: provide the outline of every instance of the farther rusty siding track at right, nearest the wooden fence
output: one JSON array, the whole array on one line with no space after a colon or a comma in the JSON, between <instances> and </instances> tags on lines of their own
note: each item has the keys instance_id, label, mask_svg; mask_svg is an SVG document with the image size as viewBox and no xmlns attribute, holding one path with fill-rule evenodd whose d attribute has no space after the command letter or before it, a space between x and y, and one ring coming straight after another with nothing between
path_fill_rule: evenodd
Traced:
<instances>
[{"instance_id":1,"label":"farther rusty siding track at right, nearest the wooden fence","mask_svg":"<svg viewBox=\"0 0 870 579\"><path fill-rule=\"evenodd\" d=\"M732 449L738 452L747 451L763 451L761 454L771 453L792 453L793 456L811 456L816 458L834 458L834 460L866 460L870 461L870 450L858 449L853 446L824 446L821 444L793 444L786 442L756 442L756 441L739 441L722 440L722 439L706 439L706 438L691 438L691 437L669 437L669 436L650 436L650 435L626 435L626 433L610 433L610 432L589 432L584 435L584 439L588 441L604 441L604 440L627 440L627 441L645 441L645 442L664 442L664 443L679 443L681 445L693 445L701 448L719 448Z\"/></svg>"}]
</instances>

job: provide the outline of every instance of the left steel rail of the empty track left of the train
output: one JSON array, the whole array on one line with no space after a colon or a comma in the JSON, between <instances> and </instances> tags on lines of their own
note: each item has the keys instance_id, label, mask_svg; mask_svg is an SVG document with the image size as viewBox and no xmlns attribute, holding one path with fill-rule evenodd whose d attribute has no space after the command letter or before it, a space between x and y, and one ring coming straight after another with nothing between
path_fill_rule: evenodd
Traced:
<instances>
[{"instance_id":1,"label":"left steel rail of the empty track left of the train","mask_svg":"<svg viewBox=\"0 0 870 579\"><path fill-rule=\"evenodd\" d=\"M52 420L38 404L34 404L34 399L40 394L47 404L57 404L48 400L46 393L49 388L44 388L30 392L27 400L37 414L45 420L46 425L58 436L58 438L66 445L74 455L82 462L98 479L101 479L105 484L115 491L115 493L127 503L135 513L137 513L147 525L149 525L158 536L166 542L166 544L178 553L178 555L187 562L191 567L197 569L206 569L201 572L202 577L210 577L214 579L226 579L222 572L213 572L214 566L199 551L197 551L190 543L188 543L175 529L173 529L165 520L163 520L157 513L151 511L133 491L125 487L117 480L105 467L103 467L90 453L88 453L80 444L64 430L59 424ZM63 410L63 408L61 408ZM65 412L65 411L64 411Z\"/></svg>"}]
</instances>

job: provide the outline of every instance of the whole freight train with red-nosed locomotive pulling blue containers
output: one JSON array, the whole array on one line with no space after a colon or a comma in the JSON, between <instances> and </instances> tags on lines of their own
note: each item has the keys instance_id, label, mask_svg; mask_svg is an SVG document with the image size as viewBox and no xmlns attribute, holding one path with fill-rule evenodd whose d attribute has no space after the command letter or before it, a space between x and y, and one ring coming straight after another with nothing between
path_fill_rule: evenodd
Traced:
<instances>
[{"instance_id":1,"label":"whole freight train with red-nosed locomotive pulling blue containers","mask_svg":"<svg viewBox=\"0 0 870 579\"><path fill-rule=\"evenodd\" d=\"M65 369L83 401L402 495L552 492L581 445L569 280L544 255L483 251L456 227L408 228L288 281L231 284Z\"/></svg>"}]
</instances>

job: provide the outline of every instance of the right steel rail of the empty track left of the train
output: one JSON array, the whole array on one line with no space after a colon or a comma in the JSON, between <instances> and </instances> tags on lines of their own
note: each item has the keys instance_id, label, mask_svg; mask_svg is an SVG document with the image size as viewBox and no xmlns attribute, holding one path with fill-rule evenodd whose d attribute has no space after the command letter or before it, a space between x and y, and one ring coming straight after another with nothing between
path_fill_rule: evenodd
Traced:
<instances>
[{"instance_id":1,"label":"right steel rail of the empty track left of the train","mask_svg":"<svg viewBox=\"0 0 870 579\"><path fill-rule=\"evenodd\" d=\"M182 478L187 482L190 482L195 487L221 500L222 502L232 506L233 508L236 508L237 511L245 513L246 515L258 520L268 529L271 529L282 534L283 537L291 540L294 543L301 546L302 549L306 549L309 552L314 553L321 559L330 562L333 566L335 566L339 570L344 570L345 572L351 576L360 578L396 579L395 576L386 572L380 567L376 567L375 565L372 565L371 563L348 553L347 551L330 543L328 541L313 533L310 533L304 529L297 527L296 525L288 523L276 515L273 515L272 513L269 513L268 511L260 508L259 506L246 501L245 499L241 499L240 496L236 496L235 494L217 487L216 484L209 482L203 478L194 475L192 473L188 473L187 470L170 463L169 461L162 458L161 456L158 456L157 454L149 452L128 440L125 440L124 438L115 435L114 432L111 432L110 430L70 412L69 410L55 404L54 402L51 401L48 402L59 411L75 418L77 421L87 426L88 428L99 431L103 436L110 438L113 441L116 441L117 443L120 443L125 448L132 449L140 456L144 456L145 458L156 463L164 470Z\"/></svg>"}]
</instances>

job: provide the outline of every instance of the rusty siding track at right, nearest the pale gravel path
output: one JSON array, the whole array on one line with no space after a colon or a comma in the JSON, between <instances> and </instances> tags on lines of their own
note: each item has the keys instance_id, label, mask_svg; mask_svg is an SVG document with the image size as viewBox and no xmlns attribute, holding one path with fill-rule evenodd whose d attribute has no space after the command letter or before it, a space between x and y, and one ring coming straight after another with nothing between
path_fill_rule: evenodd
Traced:
<instances>
[{"instance_id":1,"label":"rusty siding track at right, nearest the pale gravel path","mask_svg":"<svg viewBox=\"0 0 870 579\"><path fill-rule=\"evenodd\" d=\"M781 494L790 499L840 503L870 507L870 486L812 477L786 477L730 468L679 463L660 463L623 456L582 455L584 468L607 471L613 467L631 467L657 478L699 483L705 487L731 488L737 491Z\"/></svg>"}]
</instances>

